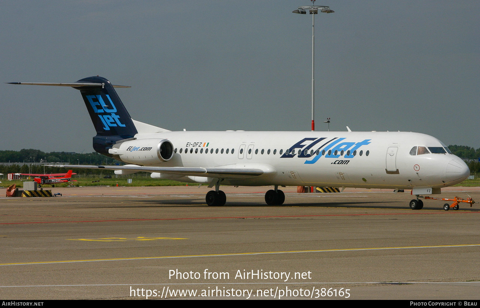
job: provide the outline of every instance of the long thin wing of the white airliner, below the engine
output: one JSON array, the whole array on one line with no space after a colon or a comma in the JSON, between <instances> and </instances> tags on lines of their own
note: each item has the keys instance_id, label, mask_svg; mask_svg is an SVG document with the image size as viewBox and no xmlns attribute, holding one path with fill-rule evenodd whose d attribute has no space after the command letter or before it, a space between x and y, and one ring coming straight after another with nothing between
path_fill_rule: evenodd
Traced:
<instances>
[{"instance_id":1,"label":"long thin wing of the white airliner, below the engine","mask_svg":"<svg viewBox=\"0 0 480 308\"><path fill-rule=\"evenodd\" d=\"M50 165L50 167L65 167L64 165ZM200 168L200 167L145 167L145 166L89 166L89 165L68 165L69 168L87 169L109 169L109 170L131 170L144 172L159 172L183 176L208 177L208 178L250 178L264 174L262 169L250 168Z\"/></svg>"}]
</instances>

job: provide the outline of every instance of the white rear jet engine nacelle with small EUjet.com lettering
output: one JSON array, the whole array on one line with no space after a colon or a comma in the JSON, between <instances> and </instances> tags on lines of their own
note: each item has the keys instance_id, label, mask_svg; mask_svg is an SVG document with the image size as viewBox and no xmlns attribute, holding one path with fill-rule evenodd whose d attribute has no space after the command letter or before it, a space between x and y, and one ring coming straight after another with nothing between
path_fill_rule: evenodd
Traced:
<instances>
[{"instance_id":1,"label":"white rear jet engine nacelle with small EUjet.com lettering","mask_svg":"<svg viewBox=\"0 0 480 308\"><path fill-rule=\"evenodd\" d=\"M173 157L173 144L167 139L134 139L114 144L108 153L125 163L156 165Z\"/></svg>"}]
</instances>

